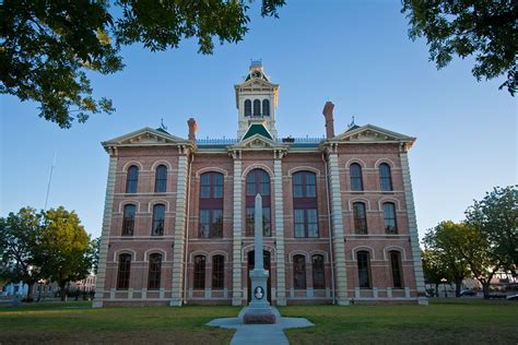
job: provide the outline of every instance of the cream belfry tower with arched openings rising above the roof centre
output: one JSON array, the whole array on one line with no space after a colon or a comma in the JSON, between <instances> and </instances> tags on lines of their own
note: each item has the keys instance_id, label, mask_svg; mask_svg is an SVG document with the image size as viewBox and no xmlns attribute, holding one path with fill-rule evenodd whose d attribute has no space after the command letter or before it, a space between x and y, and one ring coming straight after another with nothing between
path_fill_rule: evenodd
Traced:
<instances>
[{"instance_id":1,"label":"cream belfry tower with arched openings rising above the roof centre","mask_svg":"<svg viewBox=\"0 0 518 345\"><path fill-rule=\"evenodd\" d=\"M238 114L237 140L242 140L254 123L262 123L276 140L275 109L278 106L279 84L270 82L264 74L261 61L251 61L248 75L236 90Z\"/></svg>"}]
</instances>

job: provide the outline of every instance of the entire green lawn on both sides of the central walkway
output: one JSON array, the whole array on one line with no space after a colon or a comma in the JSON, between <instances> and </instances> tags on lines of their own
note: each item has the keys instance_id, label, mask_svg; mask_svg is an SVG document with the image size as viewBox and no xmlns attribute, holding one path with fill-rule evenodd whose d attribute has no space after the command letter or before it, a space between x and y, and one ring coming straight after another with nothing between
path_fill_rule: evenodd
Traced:
<instances>
[{"instance_id":1,"label":"entire green lawn on both sides of the central walkway","mask_svg":"<svg viewBox=\"0 0 518 345\"><path fill-rule=\"evenodd\" d=\"M287 330L292 344L517 344L518 302L436 300L429 306L290 306L285 317L316 326ZM0 306L0 344L227 344L234 331L209 328L239 308L132 307L92 309L89 302Z\"/></svg>"}]
</instances>

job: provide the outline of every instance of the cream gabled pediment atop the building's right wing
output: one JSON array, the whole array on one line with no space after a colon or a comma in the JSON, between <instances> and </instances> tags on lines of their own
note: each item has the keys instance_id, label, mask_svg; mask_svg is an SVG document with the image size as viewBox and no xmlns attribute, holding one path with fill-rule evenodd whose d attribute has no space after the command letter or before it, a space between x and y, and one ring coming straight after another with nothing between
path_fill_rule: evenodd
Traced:
<instances>
[{"instance_id":1,"label":"cream gabled pediment atop the building's right wing","mask_svg":"<svg viewBox=\"0 0 518 345\"><path fill-rule=\"evenodd\" d=\"M410 142L413 143L415 138L408 136L401 133L392 132L387 129L376 127L373 124L365 124L362 127L354 127L345 132L334 136L332 141L339 142Z\"/></svg>"}]
</instances>

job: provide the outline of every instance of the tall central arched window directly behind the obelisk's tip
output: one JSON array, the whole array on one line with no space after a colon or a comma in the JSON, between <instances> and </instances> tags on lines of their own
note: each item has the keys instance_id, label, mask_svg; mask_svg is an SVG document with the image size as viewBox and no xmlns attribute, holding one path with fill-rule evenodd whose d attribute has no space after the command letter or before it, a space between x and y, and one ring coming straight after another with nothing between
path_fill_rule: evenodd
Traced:
<instances>
[{"instance_id":1,"label":"tall central arched window directly behind the obelisk's tip","mask_svg":"<svg viewBox=\"0 0 518 345\"><path fill-rule=\"evenodd\" d=\"M271 234L270 176L262 169L254 169L246 177L246 233L254 236L257 193L262 197L262 235Z\"/></svg>"}]
</instances>

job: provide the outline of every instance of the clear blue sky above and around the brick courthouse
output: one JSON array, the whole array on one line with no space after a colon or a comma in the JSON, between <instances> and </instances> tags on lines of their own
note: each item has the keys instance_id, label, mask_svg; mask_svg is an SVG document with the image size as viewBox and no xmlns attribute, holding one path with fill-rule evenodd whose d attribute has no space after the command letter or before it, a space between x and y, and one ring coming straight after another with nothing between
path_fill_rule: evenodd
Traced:
<instances>
[{"instance_id":1,"label":"clear blue sky above and around the brick courthouse","mask_svg":"<svg viewBox=\"0 0 518 345\"><path fill-rule=\"evenodd\" d=\"M318 4L317 4L318 3ZM150 52L125 48L126 69L92 74L97 96L117 111L96 115L70 130L37 117L37 105L0 96L0 216L31 205L43 209L57 153L49 207L75 210L86 230L101 234L108 155L99 142L142 127L187 136L235 138L233 85L250 59L280 83L280 136L321 136L321 109L334 103L335 131L355 116L417 138L410 153L420 235L443 219L460 221L473 199L494 186L517 182L516 100L498 91L502 80L480 82L473 61L455 59L437 71L424 40L408 38L399 1L289 1L280 19L260 19L237 45L197 53L196 41Z\"/></svg>"}]
</instances>

